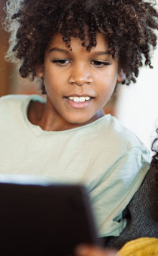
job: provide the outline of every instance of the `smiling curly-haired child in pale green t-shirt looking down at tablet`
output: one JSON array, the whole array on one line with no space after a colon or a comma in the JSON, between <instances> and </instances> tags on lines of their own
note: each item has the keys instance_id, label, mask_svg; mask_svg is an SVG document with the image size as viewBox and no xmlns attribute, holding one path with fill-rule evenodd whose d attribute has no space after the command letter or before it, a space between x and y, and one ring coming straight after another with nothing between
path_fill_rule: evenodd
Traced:
<instances>
[{"instance_id":1,"label":"smiling curly-haired child in pale green t-shirt looking down at tablet","mask_svg":"<svg viewBox=\"0 0 158 256\"><path fill-rule=\"evenodd\" d=\"M1 172L86 184L99 237L119 236L150 157L102 108L117 83L135 82L143 56L151 67L158 14L141 0L11 0L6 10L8 59L46 99L2 97Z\"/></svg>"}]
</instances>

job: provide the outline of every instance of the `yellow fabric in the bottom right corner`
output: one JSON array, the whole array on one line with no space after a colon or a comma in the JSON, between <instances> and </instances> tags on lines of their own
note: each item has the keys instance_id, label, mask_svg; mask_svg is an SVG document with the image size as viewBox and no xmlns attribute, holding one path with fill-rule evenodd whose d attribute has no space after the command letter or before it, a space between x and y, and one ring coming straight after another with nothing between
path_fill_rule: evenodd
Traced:
<instances>
[{"instance_id":1,"label":"yellow fabric in the bottom right corner","mask_svg":"<svg viewBox=\"0 0 158 256\"><path fill-rule=\"evenodd\" d=\"M142 237L127 242L117 256L158 256L158 239Z\"/></svg>"}]
</instances>

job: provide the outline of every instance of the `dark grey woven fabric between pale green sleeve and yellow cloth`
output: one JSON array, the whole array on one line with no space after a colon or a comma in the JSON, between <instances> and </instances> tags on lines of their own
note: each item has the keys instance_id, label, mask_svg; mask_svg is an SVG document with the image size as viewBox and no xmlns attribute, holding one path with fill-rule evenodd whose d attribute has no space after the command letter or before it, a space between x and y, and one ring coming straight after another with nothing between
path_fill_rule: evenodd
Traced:
<instances>
[{"instance_id":1,"label":"dark grey woven fabric between pale green sleeve and yellow cloth","mask_svg":"<svg viewBox=\"0 0 158 256\"><path fill-rule=\"evenodd\" d=\"M111 236L107 246L121 248L126 242L139 237L158 238L158 200L155 172L149 169L143 184L123 212L127 224L120 236Z\"/></svg>"}]
</instances>

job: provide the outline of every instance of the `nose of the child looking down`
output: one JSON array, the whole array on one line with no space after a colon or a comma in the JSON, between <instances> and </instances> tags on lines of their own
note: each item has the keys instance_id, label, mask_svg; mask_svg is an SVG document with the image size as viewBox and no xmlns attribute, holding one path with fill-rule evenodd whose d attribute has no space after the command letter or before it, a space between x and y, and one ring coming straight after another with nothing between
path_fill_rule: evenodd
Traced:
<instances>
[{"instance_id":1,"label":"nose of the child looking down","mask_svg":"<svg viewBox=\"0 0 158 256\"><path fill-rule=\"evenodd\" d=\"M71 70L68 83L83 86L84 84L92 84L93 78L90 71L85 66L75 66L74 69Z\"/></svg>"}]
</instances>

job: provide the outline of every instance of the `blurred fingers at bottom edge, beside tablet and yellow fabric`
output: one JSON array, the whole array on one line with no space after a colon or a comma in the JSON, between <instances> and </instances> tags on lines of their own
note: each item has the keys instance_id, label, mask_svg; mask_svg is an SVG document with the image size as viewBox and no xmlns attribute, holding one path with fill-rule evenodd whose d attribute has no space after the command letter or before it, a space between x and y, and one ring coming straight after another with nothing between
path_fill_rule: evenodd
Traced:
<instances>
[{"instance_id":1,"label":"blurred fingers at bottom edge, beside tablet and yellow fabric","mask_svg":"<svg viewBox=\"0 0 158 256\"><path fill-rule=\"evenodd\" d=\"M104 249L94 245L79 245L75 249L75 256L117 256L117 251Z\"/></svg>"}]
</instances>

